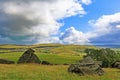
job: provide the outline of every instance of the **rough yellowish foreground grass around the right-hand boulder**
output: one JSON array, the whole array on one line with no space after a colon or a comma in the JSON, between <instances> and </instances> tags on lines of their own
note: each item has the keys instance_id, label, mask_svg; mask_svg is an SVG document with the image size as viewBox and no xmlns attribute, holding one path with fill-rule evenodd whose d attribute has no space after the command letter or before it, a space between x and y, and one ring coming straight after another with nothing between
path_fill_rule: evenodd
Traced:
<instances>
[{"instance_id":1,"label":"rough yellowish foreground grass around the right-hand boulder","mask_svg":"<svg viewBox=\"0 0 120 80\"><path fill-rule=\"evenodd\" d=\"M120 80L120 70L106 68L103 76L79 76L64 65L0 65L0 80Z\"/></svg>"}]
</instances>

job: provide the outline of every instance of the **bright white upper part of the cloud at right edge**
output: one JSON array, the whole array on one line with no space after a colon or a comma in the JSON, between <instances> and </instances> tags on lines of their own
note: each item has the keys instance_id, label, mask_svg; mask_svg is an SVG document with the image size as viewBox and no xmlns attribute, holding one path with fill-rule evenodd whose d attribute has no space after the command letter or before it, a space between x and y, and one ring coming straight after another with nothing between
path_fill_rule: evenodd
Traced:
<instances>
[{"instance_id":1,"label":"bright white upper part of the cloud at right edge","mask_svg":"<svg viewBox=\"0 0 120 80\"><path fill-rule=\"evenodd\" d=\"M89 21L90 25L94 28L92 33L96 36L102 36L118 30L120 25L120 13L112 15L103 15L97 20Z\"/></svg>"}]
</instances>

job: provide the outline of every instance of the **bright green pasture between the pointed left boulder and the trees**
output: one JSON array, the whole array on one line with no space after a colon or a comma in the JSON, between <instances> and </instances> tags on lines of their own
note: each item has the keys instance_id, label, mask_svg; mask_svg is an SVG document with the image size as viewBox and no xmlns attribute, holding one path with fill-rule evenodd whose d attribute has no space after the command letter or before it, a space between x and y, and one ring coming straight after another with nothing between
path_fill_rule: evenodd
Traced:
<instances>
[{"instance_id":1,"label":"bright green pasture between the pointed left boulder and the trees","mask_svg":"<svg viewBox=\"0 0 120 80\"><path fill-rule=\"evenodd\" d=\"M82 56L63 56L57 54L39 54L38 56L41 60L52 64L72 64L82 59Z\"/></svg>"}]
</instances>

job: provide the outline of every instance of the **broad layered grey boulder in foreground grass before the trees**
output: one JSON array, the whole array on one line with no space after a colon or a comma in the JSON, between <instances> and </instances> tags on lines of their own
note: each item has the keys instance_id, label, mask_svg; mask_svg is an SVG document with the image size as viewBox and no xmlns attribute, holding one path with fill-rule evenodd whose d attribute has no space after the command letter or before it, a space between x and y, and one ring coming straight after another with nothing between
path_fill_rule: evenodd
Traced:
<instances>
[{"instance_id":1,"label":"broad layered grey boulder in foreground grass before the trees","mask_svg":"<svg viewBox=\"0 0 120 80\"><path fill-rule=\"evenodd\" d=\"M80 75L103 75L104 71L98 63L90 56L85 57L82 61L76 64L71 64L68 68L69 72Z\"/></svg>"}]
</instances>

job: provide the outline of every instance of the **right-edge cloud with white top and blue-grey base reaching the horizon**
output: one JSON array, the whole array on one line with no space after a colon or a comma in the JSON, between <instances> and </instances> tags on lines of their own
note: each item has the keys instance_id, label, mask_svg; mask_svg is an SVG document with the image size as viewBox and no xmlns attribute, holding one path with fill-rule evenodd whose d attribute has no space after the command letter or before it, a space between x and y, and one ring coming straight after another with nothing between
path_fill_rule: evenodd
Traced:
<instances>
[{"instance_id":1,"label":"right-edge cloud with white top and blue-grey base reaching the horizon","mask_svg":"<svg viewBox=\"0 0 120 80\"><path fill-rule=\"evenodd\" d=\"M94 31L88 34L91 43L112 44L120 43L120 13L103 15L97 20L90 21ZM93 34L93 35L92 35Z\"/></svg>"}]
</instances>

